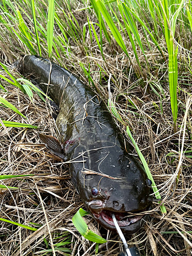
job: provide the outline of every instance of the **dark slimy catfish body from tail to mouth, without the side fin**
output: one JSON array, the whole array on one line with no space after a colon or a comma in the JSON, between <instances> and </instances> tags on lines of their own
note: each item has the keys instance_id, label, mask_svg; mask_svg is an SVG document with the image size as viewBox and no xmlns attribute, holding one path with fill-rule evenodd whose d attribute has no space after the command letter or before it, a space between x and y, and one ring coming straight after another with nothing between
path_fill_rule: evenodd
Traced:
<instances>
[{"instance_id":1,"label":"dark slimy catfish body from tail to mouth, without the side fin","mask_svg":"<svg viewBox=\"0 0 192 256\"><path fill-rule=\"evenodd\" d=\"M143 167L131 155L131 144L124 142L104 102L74 75L47 59L26 56L19 70L59 106L56 125L63 148L59 154L71 160L72 182L88 211L107 229L116 231L113 212L124 233L138 231L146 219L142 211L152 201L150 187Z\"/></svg>"}]
</instances>

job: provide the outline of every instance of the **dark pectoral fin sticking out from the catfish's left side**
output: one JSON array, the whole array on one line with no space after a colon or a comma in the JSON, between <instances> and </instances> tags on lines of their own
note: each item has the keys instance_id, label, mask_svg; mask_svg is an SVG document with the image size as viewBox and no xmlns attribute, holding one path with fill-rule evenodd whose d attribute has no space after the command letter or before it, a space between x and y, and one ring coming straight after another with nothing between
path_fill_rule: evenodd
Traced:
<instances>
[{"instance_id":1,"label":"dark pectoral fin sticking out from the catfish's left side","mask_svg":"<svg viewBox=\"0 0 192 256\"><path fill-rule=\"evenodd\" d=\"M51 136L51 135L45 135L42 133L38 133L39 139L42 140L42 142L45 143L46 147L48 148L48 150L51 151L51 153L53 153L54 155L60 157L63 160L67 160L66 154L61 146L61 144L59 143L59 141Z\"/></svg>"}]
</instances>

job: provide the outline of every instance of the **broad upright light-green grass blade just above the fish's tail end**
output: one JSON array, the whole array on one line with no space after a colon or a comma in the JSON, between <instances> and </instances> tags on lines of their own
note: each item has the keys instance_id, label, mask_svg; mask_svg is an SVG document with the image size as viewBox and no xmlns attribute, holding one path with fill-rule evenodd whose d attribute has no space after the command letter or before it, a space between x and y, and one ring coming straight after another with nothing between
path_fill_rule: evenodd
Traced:
<instances>
[{"instance_id":1,"label":"broad upright light-green grass blade just above the fish's tail end","mask_svg":"<svg viewBox=\"0 0 192 256\"><path fill-rule=\"evenodd\" d=\"M51 57L52 46L53 46L54 15L55 15L55 3L54 3L54 0L49 0L48 20L47 20L47 44L48 44L49 58Z\"/></svg>"}]
</instances>

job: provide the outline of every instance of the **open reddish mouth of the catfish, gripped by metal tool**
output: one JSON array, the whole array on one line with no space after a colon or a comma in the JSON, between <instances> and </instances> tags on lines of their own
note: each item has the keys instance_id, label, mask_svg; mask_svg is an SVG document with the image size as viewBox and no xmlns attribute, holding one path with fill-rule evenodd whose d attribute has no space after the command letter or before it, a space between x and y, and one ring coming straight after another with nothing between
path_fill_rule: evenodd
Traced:
<instances>
[{"instance_id":1,"label":"open reddish mouth of the catfish, gripped by metal tool","mask_svg":"<svg viewBox=\"0 0 192 256\"><path fill-rule=\"evenodd\" d=\"M99 214L95 214L93 211L91 211L91 214L103 227L116 231L112 218L112 214L114 214L122 232L125 234L133 234L141 228L144 221L148 218L147 215L142 214L142 212L146 210L147 208L128 213L103 209Z\"/></svg>"}]
</instances>

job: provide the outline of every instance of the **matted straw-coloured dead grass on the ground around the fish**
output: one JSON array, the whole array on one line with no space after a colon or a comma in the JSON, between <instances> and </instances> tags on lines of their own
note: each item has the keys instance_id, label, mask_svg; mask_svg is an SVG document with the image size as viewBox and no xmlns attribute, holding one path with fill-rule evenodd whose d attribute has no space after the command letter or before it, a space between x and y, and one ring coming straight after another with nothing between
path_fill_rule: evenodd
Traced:
<instances>
[{"instance_id":1,"label":"matted straw-coloured dead grass on the ground around the fish","mask_svg":"<svg viewBox=\"0 0 192 256\"><path fill-rule=\"evenodd\" d=\"M94 72L93 79L103 99L108 98L107 83L102 81L96 63L91 66ZM179 115L177 131L174 131L172 112L170 109L167 74L163 73L166 63L159 64L159 76L165 76L164 98L160 101L156 94L148 87L148 83L140 84L132 73L132 69L124 69L130 63L122 56L113 59L108 56L108 62L102 66L112 73L112 93L116 99L117 109L122 119L129 124L132 134L144 155L152 175L158 185L167 210L162 216L159 204L153 203L145 225L133 236L126 237L129 246L139 247L144 255L187 255L192 247L191 231L191 99L190 87L185 85L190 79L188 76L179 85L184 91L178 94ZM83 59L83 58L82 58ZM65 62L65 59L62 59ZM72 62L78 59L72 58ZM79 66L68 62L69 70L73 71L84 82L87 82ZM156 68L156 63L152 66ZM131 67L131 66L129 66ZM96 72L98 71L98 72ZM128 73L127 73L128 72ZM146 72L146 76L149 74ZM115 81L113 80L115 77ZM107 78L107 76L106 76ZM155 78L151 75L151 79ZM146 80L147 81L147 80ZM116 86L114 83L116 82ZM118 87L117 87L118 84ZM84 239L75 229L72 217L82 202L76 193L69 175L69 168L56 156L50 154L45 145L38 139L37 131L56 136L55 123L50 116L48 106L34 94L33 103L18 91L17 88L7 87L8 92L1 91L1 95L27 116L27 120L9 109L1 106L1 118L9 121L28 122L38 125L37 130L9 128L0 129L1 175L31 175L28 178L1 180L1 184L17 187L16 190L1 190L0 218L22 223L38 228L31 231L16 225L2 222L0 225L0 255L45 255L42 250L51 249L65 239L72 242L67 247L72 252L55 249L55 255L94 255L95 246ZM131 99L135 106L131 106ZM188 104L188 106L187 106ZM185 114L186 113L186 114ZM186 126L185 126L186 124ZM122 133L126 136L125 127L120 123ZM180 155L182 150L189 152ZM172 198L168 198L173 194ZM168 199L167 199L168 198ZM84 217L89 228L100 233L105 239L114 242L99 246L97 255L117 255L122 250L117 234L105 230L92 217ZM162 233L177 231L177 233ZM48 244L48 247L46 246ZM47 252L46 255L52 255ZM54 255L54 254L53 254Z\"/></svg>"}]
</instances>

